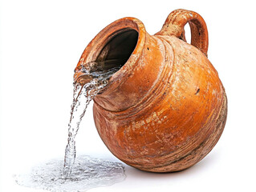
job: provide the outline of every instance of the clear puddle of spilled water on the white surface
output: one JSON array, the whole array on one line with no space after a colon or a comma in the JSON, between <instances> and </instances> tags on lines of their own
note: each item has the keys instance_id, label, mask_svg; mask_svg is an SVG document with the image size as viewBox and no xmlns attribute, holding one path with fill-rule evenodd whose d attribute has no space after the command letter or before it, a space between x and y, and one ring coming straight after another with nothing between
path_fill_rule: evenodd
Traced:
<instances>
[{"instance_id":1,"label":"clear puddle of spilled water on the white surface","mask_svg":"<svg viewBox=\"0 0 256 192\"><path fill-rule=\"evenodd\" d=\"M86 191L99 186L111 186L126 178L124 166L89 156L78 156L70 177L63 175L63 158L34 166L26 173L14 175L18 185L51 191Z\"/></svg>"}]
</instances>

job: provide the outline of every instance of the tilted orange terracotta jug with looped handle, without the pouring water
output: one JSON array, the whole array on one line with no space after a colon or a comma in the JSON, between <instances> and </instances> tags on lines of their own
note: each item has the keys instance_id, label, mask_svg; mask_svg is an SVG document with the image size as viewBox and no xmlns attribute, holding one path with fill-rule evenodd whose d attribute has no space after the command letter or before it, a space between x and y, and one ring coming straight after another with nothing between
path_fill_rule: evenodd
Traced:
<instances>
[{"instance_id":1,"label":"tilted orange terracotta jug with looped handle, without the pouring water","mask_svg":"<svg viewBox=\"0 0 256 192\"><path fill-rule=\"evenodd\" d=\"M191 45L185 42L189 22ZM160 32L149 35L136 18L112 22L89 43L76 68L124 58L94 99L95 126L108 149L140 170L172 172L199 162L226 123L225 90L207 58L201 16L174 10Z\"/></svg>"}]
</instances>

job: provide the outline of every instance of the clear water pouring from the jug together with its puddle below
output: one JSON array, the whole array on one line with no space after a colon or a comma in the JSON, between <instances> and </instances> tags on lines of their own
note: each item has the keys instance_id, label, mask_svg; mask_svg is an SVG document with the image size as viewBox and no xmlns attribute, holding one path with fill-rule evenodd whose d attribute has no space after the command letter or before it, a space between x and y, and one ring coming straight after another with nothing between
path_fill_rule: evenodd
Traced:
<instances>
[{"instance_id":1,"label":"clear water pouring from the jug together with its puddle below","mask_svg":"<svg viewBox=\"0 0 256 192\"><path fill-rule=\"evenodd\" d=\"M120 70L118 60L107 62L108 68L105 66L106 62L90 62L84 65L90 66L89 69L82 66L80 71L89 80L84 85L74 83L64 166L61 159L53 159L35 166L26 174L14 175L19 185L53 191L85 191L124 180L124 166L120 162L109 162L84 155L75 157L75 136L87 106L108 86L112 74Z\"/></svg>"}]
</instances>

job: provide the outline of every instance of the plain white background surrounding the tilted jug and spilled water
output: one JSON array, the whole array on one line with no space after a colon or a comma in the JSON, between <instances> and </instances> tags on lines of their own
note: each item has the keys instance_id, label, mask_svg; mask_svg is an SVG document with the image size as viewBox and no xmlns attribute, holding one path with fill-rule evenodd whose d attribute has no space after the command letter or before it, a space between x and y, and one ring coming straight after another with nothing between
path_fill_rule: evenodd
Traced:
<instances>
[{"instance_id":1,"label":"plain white background surrounding the tilted jug and spilled water","mask_svg":"<svg viewBox=\"0 0 256 192\"><path fill-rule=\"evenodd\" d=\"M63 157L73 70L87 43L123 17L161 30L178 8L201 14L209 60L228 96L228 119L217 146L192 168L150 174L126 166L127 178L95 191L256 191L256 27L254 1L1 1L0 191L35 191L12 174ZM77 153L118 162L98 136L91 106L77 135Z\"/></svg>"}]
</instances>

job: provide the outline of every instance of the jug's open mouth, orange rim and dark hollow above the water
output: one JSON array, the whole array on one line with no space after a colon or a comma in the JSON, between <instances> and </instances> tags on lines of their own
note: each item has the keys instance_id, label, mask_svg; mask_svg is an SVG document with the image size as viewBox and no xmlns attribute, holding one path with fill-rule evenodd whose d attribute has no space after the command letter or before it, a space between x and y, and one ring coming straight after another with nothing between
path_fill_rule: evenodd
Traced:
<instances>
[{"instance_id":1,"label":"jug's open mouth, orange rim and dark hollow above the water","mask_svg":"<svg viewBox=\"0 0 256 192\"><path fill-rule=\"evenodd\" d=\"M137 18L120 18L116 22L112 22L104 30L101 30L83 51L75 68L75 82L84 82L83 73L79 70L81 66L86 66L90 62L122 58L119 63L120 70L112 74L108 80L108 86L101 93L116 89L136 68L136 61L144 49L145 38L144 24ZM109 47L112 50L108 50Z\"/></svg>"}]
</instances>

